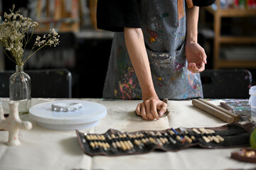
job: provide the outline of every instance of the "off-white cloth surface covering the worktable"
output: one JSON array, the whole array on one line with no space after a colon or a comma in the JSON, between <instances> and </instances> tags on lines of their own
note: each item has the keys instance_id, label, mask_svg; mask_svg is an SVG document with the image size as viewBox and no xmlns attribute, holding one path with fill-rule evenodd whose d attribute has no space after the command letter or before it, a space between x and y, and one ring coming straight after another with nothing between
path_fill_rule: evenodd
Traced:
<instances>
[{"instance_id":1,"label":"off-white cloth surface covering the worktable","mask_svg":"<svg viewBox=\"0 0 256 170\"><path fill-rule=\"evenodd\" d=\"M103 101L107 116L100 123L81 132L104 133L108 129L133 132L137 130L166 130L167 128L202 128L225 125L192 106L191 101L169 101L170 114L160 120L147 121L134 115L140 101ZM32 105L43 102L32 99ZM30 120L22 115L22 120ZM21 130L18 147L8 147L8 132L0 131L0 169L252 169L256 164L230 159L233 149L188 148L178 152L150 152L119 157L90 157L82 152L75 131L48 130L33 123L32 130Z\"/></svg>"}]
</instances>

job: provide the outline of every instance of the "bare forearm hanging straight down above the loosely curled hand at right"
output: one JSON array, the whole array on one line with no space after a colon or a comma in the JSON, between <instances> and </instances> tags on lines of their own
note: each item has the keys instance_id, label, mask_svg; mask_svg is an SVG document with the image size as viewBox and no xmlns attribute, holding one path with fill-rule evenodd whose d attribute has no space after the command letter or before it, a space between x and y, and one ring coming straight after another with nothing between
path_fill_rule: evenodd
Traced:
<instances>
[{"instance_id":1,"label":"bare forearm hanging straight down above the loosely curled hand at right","mask_svg":"<svg viewBox=\"0 0 256 170\"><path fill-rule=\"evenodd\" d=\"M198 14L199 7L193 6L186 9L186 41L197 42L198 41Z\"/></svg>"}]
</instances>

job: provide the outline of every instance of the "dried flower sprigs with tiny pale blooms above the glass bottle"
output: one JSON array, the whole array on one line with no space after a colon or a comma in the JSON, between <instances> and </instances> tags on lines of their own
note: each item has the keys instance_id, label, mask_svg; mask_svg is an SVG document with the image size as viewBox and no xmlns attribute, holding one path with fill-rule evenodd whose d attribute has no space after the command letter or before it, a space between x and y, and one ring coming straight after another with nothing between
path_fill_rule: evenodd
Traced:
<instances>
[{"instance_id":1,"label":"dried flower sprigs with tiny pale blooms above the glass bottle","mask_svg":"<svg viewBox=\"0 0 256 170\"><path fill-rule=\"evenodd\" d=\"M32 55L36 54L38 50L41 50L46 45L53 45L54 47L58 45L60 35L54 29L50 29L50 33L43 35L43 38L37 36L31 52L29 52L27 57L24 57L23 53L26 45L31 40L33 30L38 26L38 23L33 22L31 18L23 17L19 14L19 11L14 13L14 8L15 6L10 9L10 14L4 13L4 21L0 23L0 45L7 57L17 65L23 65ZM32 29L31 35L28 34L29 29ZM11 54L11 57L8 53Z\"/></svg>"}]
</instances>

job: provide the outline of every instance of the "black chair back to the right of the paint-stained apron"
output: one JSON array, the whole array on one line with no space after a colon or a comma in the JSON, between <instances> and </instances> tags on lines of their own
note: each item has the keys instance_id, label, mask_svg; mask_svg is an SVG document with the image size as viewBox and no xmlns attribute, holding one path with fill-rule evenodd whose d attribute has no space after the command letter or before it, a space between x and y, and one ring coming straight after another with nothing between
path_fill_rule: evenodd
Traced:
<instances>
[{"instance_id":1,"label":"black chair back to the right of the paint-stained apron","mask_svg":"<svg viewBox=\"0 0 256 170\"><path fill-rule=\"evenodd\" d=\"M249 98L252 74L247 69L206 69L201 72L204 98Z\"/></svg>"}]
</instances>

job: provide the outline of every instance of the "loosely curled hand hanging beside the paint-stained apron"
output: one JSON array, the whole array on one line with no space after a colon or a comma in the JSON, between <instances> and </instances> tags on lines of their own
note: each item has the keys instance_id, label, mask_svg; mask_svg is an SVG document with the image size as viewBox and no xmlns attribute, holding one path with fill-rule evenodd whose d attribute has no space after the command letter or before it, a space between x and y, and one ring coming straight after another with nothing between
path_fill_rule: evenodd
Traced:
<instances>
[{"instance_id":1,"label":"loosely curled hand hanging beside the paint-stained apron","mask_svg":"<svg viewBox=\"0 0 256 170\"><path fill-rule=\"evenodd\" d=\"M206 64L206 52L197 42L186 42L186 59L188 61L188 70L196 73L203 72Z\"/></svg>"}]
</instances>

